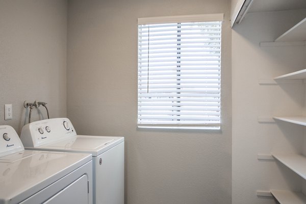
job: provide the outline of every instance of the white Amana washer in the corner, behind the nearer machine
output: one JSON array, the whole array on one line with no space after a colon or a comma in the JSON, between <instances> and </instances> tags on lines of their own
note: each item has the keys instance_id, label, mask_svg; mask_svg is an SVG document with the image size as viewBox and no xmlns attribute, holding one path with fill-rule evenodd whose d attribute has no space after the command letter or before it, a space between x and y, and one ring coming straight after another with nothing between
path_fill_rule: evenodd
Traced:
<instances>
[{"instance_id":1,"label":"white Amana washer in the corner, behind the nearer machine","mask_svg":"<svg viewBox=\"0 0 306 204\"><path fill-rule=\"evenodd\" d=\"M124 137L77 135L68 118L23 126L25 149L90 153L93 161L93 202L124 203Z\"/></svg>"}]
</instances>

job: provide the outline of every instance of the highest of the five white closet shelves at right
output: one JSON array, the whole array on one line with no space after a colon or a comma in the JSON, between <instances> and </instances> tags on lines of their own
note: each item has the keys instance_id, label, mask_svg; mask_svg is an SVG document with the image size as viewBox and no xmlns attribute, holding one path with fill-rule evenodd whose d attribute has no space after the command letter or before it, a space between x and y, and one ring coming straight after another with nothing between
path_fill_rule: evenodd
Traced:
<instances>
[{"instance_id":1,"label":"highest of the five white closet shelves at right","mask_svg":"<svg viewBox=\"0 0 306 204\"><path fill-rule=\"evenodd\" d=\"M306 18L294 25L286 33L279 36L275 42L288 42L288 41L305 41L306 40Z\"/></svg>"}]
</instances>

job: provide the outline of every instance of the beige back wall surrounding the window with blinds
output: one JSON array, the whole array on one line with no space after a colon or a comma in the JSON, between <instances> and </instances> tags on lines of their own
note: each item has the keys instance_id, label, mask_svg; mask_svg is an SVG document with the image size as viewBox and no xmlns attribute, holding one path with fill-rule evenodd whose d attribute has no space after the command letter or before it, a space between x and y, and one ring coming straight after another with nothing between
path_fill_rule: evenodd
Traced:
<instances>
[{"instance_id":1,"label":"beige back wall surrounding the window with blinds","mask_svg":"<svg viewBox=\"0 0 306 204\"><path fill-rule=\"evenodd\" d=\"M125 136L129 204L231 203L230 1L68 1L67 116L79 134ZM224 13L222 130L138 129L137 18Z\"/></svg>"}]
</instances>

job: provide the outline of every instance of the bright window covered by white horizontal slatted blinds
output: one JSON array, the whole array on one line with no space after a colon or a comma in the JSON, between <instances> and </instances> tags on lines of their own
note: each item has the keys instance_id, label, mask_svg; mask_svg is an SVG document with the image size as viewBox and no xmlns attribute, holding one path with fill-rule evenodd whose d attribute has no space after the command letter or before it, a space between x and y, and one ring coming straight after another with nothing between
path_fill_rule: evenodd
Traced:
<instances>
[{"instance_id":1,"label":"bright window covered by white horizontal slatted blinds","mask_svg":"<svg viewBox=\"0 0 306 204\"><path fill-rule=\"evenodd\" d=\"M138 126L220 129L223 14L138 19Z\"/></svg>"}]
</instances>

